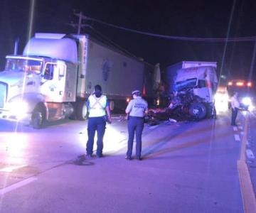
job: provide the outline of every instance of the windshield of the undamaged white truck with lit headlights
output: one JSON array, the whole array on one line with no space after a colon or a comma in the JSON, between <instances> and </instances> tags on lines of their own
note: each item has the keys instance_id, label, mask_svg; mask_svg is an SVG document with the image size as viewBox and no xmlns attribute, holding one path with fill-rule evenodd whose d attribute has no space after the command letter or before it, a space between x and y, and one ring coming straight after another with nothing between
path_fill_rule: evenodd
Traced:
<instances>
[{"instance_id":1,"label":"windshield of the undamaged white truck with lit headlights","mask_svg":"<svg viewBox=\"0 0 256 213\"><path fill-rule=\"evenodd\" d=\"M11 71L11 72L28 72L28 73L40 74L42 63L43 62L38 60L7 58L6 66L4 70Z\"/></svg>"}]
</instances>

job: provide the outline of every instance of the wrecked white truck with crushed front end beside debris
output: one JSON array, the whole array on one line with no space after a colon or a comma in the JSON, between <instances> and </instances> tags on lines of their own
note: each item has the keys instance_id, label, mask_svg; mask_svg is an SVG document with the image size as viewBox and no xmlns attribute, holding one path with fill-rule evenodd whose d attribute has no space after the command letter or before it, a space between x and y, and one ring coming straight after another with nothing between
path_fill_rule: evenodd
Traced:
<instances>
[{"instance_id":1,"label":"wrecked white truck with crushed front end beside debris","mask_svg":"<svg viewBox=\"0 0 256 213\"><path fill-rule=\"evenodd\" d=\"M214 116L218 86L217 62L182 61L166 68L169 92L178 95L178 109L193 119Z\"/></svg>"}]
</instances>

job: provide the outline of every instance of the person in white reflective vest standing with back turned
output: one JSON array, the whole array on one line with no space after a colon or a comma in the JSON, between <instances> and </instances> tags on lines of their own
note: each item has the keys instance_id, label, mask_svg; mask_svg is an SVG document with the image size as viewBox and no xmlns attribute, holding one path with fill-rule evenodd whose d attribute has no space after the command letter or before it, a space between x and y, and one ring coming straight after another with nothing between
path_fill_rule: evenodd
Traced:
<instances>
[{"instance_id":1,"label":"person in white reflective vest standing with back turned","mask_svg":"<svg viewBox=\"0 0 256 213\"><path fill-rule=\"evenodd\" d=\"M97 131L96 155L98 158L101 158L106 122L111 124L111 116L110 104L107 100L107 97L102 94L102 88L100 87L100 85L95 86L94 92L88 98L87 109L89 111L89 118L87 125L88 141L86 145L86 157L92 158L95 131Z\"/></svg>"}]
</instances>

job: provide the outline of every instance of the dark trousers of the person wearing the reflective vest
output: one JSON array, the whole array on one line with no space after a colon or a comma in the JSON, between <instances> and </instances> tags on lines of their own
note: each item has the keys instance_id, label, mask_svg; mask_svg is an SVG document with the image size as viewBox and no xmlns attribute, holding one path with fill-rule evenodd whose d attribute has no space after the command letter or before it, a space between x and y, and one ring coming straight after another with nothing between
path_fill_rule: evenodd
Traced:
<instances>
[{"instance_id":1,"label":"dark trousers of the person wearing the reflective vest","mask_svg":"<svg viewBox=\"0 0 256 213\"><path fill-rule=\"evenodd\" d=\"M88 141L86 145L87 155L92 155L93 143L95 138L95 131L97 131L97 155L102 155L103 150L103 136L105 134L106 121L104 116L91 117L88 119L87 133Z\"/></svg>"}]
</instances>

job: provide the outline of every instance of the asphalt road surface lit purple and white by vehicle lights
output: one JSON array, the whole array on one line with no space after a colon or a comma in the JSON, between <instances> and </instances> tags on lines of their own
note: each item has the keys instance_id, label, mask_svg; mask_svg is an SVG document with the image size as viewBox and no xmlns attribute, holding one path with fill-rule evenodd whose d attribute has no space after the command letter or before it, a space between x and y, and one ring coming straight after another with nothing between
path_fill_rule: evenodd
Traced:
<instances>
[{"instance_id":1,"label":"asphalt road surface lit purple and white by vehicle lights","mask_svg":"<svg viewBox=\"0 0 256 213\"><path fill-rule=\"evenodd\" d=\"M244 212L237 164L244 115L237 129L227 114L145 125L142 161L124 159L127 121L113 120L105 157L92 160L84 157L87 122L35 130L0 121L0 212Z\"/></svg>"}]
</instances>

